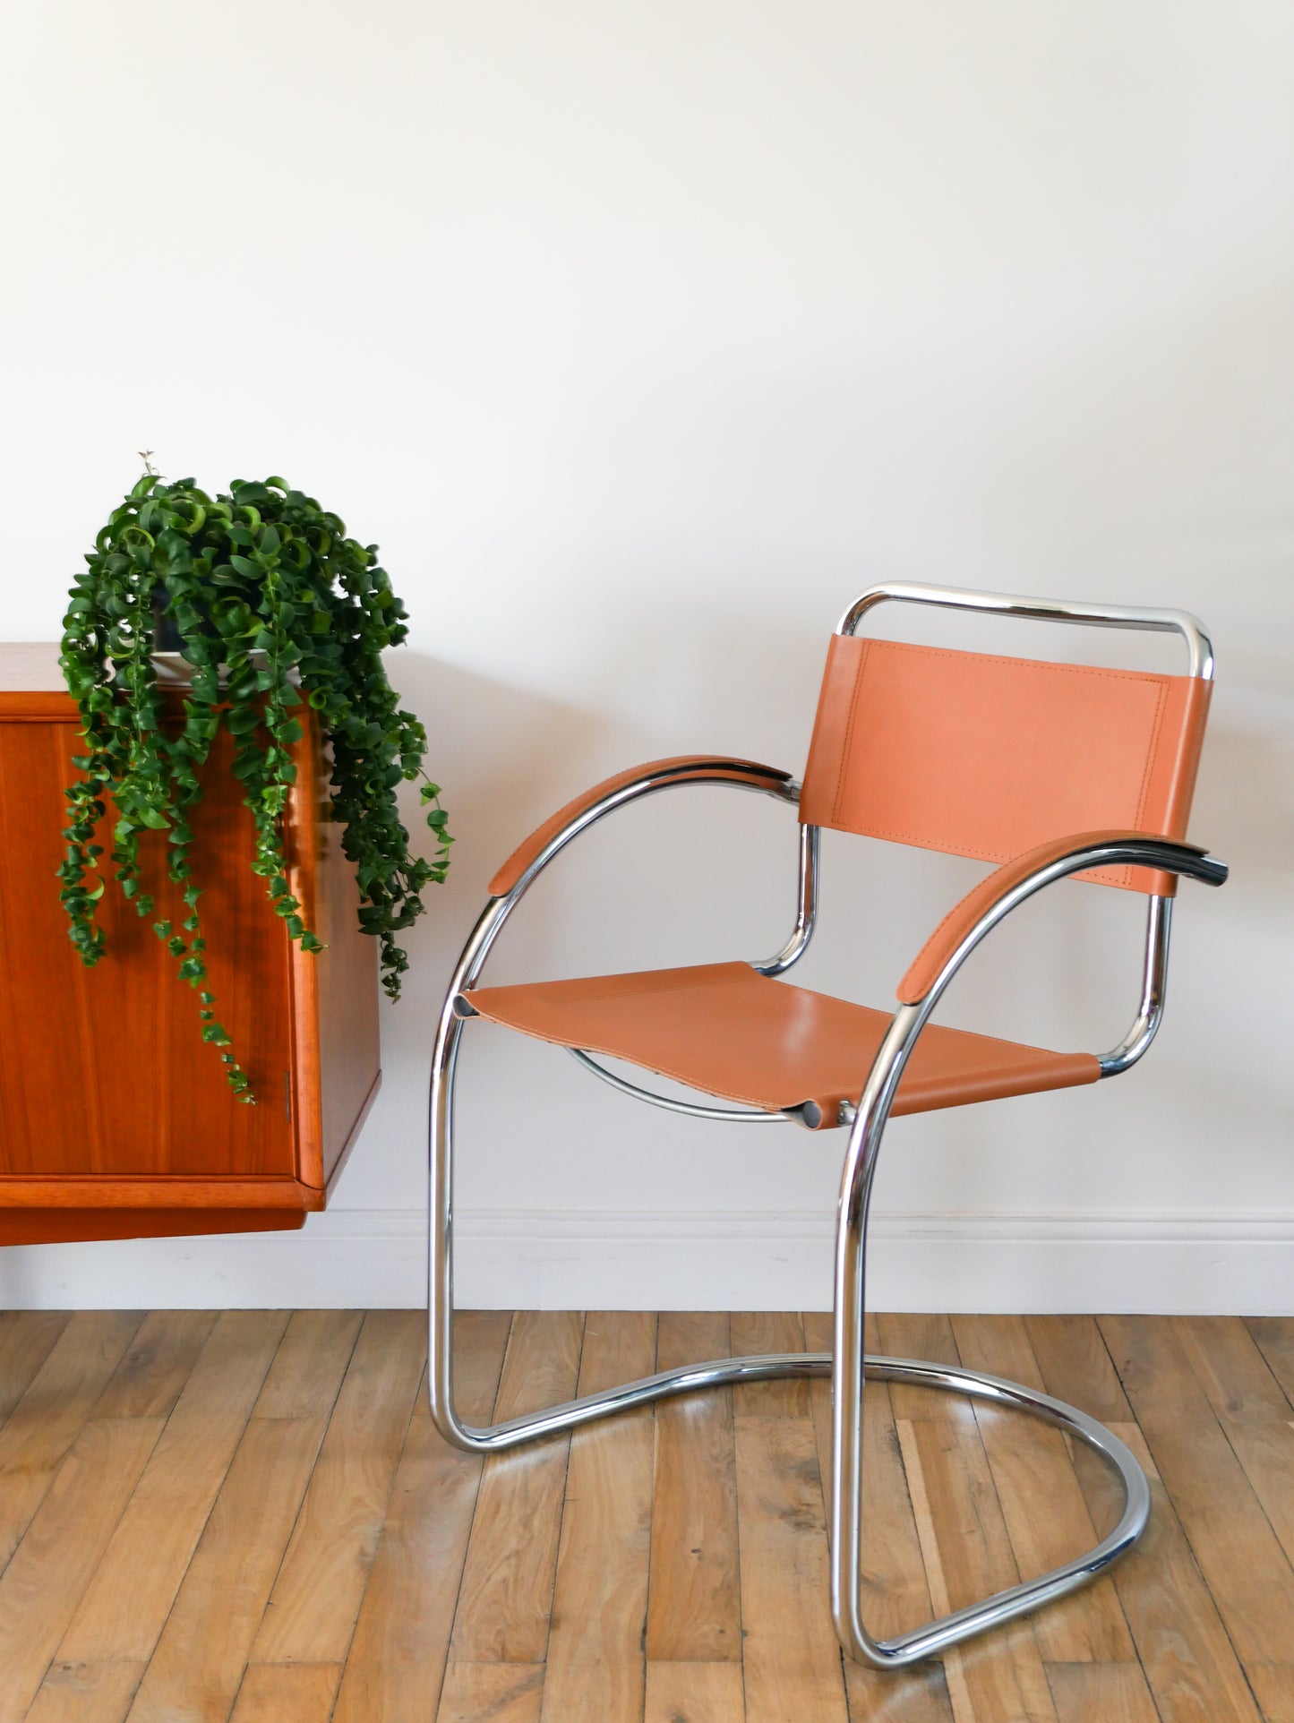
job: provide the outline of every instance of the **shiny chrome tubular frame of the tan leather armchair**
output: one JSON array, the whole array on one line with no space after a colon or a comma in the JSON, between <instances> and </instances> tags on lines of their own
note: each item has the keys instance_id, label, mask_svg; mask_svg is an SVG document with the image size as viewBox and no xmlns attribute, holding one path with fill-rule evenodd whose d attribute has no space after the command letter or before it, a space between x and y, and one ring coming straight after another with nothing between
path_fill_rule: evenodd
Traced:
<instances>
[{"instance_id":1,"label":"shiny chrome tubular frame of the tan leather armchair","mask_svg":"<svg viewBox=\"0 0 1294 1723\"><path fill-rule=\"evenodd\" d=\"M1008 615L1049 617L1067 622L1094 622L1106 627L1161 627L1182 632L1191 646L1194 674L1211 675L1208 636L1194 619L1177 612L1094 612L1092 606L1053 605L1041 600L1001 598L998 594L956 593L937 588L887 586L874 588L846 612L843 632L851 632L858 617L882 598L903 598L917 603L946 603L956 608L999 610ZM1198 667L1198 669L1196 669ZM731 770L731 768L729 768ZM1017 1382L963 1370L951 1365L924 1363L910 1358L872 1358L863 1353L867 1220L875 1177L880 1141L889 1120L903 1068L946 987L987 934L1036 891L1068 874L1092 867L1134 865L1151 867L1168 874L1187 875L1210 886L1227 879L1227 868L1213 856L1203 856L1166 839L1135 839L1087 846L1058 862L1036 870L1003 894L958 944L936 977L927 996L913 1005L901 1005L891 1020L880 1049L872 1061L858 1108L848 1108L849 1144L844 1156L836 1222L834 1268L834 1335L831 1353L772 1353L756 1358L720 1358L679 1370L663 1370L638 1382L600 1394L586 1394L551 1406L544 1411L503 1423L474 1427L462 1421L453 1401L453 1085L458 1058L458 1041L463 1015L457 1005L460 994L470 989L481 975L486 956L505 920L538 877L565 844L601 818L612 808L639 794L667 787L669 782L732 782L732 779L706 779L703 774L681 774L669 779L644 777L603 798L593 808L577 815L558 832L517 886L501 898L491 899L463 948L446 994L445 1010L436 1036L431 1080L431 1201L429 1201L429 1366L427 1384L431 1415L436 1428L455 1447L477 1454L505 1452L522 1442L574 1430L594 1418L605 1418L632 1406L643 1406L675 1394L691 1394L724 1384L762 1382L774 1377L831 1377L832 1382L832 1477L831 1477L831 1608L836 1633L848 1656L880 1670L903 1668L922 1658L936 1656L975 1633L982 1633L1013 1616L1037 1609L1041 1604L1063 1597L1101 1575L1141 1535L1149 1515L1149 1485L1132 1452L1094 1418L1067 1406L1063 1401ZM751 786L751 787L765 787ZM770 791L793 801L796 787ZM815 917L817 832L801 829L801 889L796 930L787 946L767 965L756 965L763 973L781 973L808 944ZM1163 1011L1163 986L1168 956L1168 927L1172 903L1151 898L1146 942L1146 968L1141 1013L1120 1042L1103 1061L1103 1075L1125 1070L1149 1046ZM596 1075L615 1087L701 1117L741 1117L731 1110L700 1108L672 1103L634 1084L605 1072L588 1054L575 1054ZM755 1113L760 1120L791 1115ZM875 1640L868 1633L860 1609L860 1566L863 1535L862 1499L862 1446L863 1446L863 1384L867 1380L908 1382L918 1387L946 1389L968 1394L996 1406L1025 1411L1044 1420L1091 1449L1103 1454L1118 1473L1123 1487L1123 1511L1115 1528L1092 1549L1075 1556L1063 1566L1022 1585L1013 1585L965 1609L958 1609L915 1632L891 1640Z\"/></svg>"}]
</instances>

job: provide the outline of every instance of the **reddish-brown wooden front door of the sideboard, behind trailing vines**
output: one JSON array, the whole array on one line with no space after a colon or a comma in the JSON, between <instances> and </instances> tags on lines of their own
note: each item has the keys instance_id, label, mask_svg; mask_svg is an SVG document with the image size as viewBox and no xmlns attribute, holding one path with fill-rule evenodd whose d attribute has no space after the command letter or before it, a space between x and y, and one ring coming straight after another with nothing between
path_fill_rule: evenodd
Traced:
<instances>
[{"instance_id":1,"label":"reddish-brown wooden front door of the sideboard, behind trailing vines","mask_svg":"<svg viewBox=\"0 0 1294 1723\"><path fill-rule=\"evenodd\" d=\"M252 815L229 772L229 737L195 813L193 882L207 986L255 1106L229 1092L219 1053L200 1037L196 992L152 930L188 913L165 879L165 832L141 844L153 913L141 920L121 898L105 855L107 953L88 970L67 939L64 787L84 744L71 701L65 710L0 712L0 1179L291 1179L289 951L250 868ZM107 834L98 841L110 846Z\"/></svg>"}]
</instances>

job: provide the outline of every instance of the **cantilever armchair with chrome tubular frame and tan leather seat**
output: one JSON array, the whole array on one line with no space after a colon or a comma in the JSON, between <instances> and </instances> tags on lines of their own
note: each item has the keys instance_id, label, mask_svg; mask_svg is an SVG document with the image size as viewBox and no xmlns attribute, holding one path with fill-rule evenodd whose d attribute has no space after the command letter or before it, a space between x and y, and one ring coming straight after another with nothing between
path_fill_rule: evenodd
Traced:
<instances>
[{"instance_id":1,"label":"cantilever armchair with chrome tubular frame and tan leather seat","mask_svg":"<svg viewBox=\"0 0 1294 1723\"><path fill-rule=\"evenodd\" d=\"M1051 622L1156 629L1182 638L1185 675L1042 663L896 644L858 636L882 601L943 605ZM1063 1401L949 1365L863 1356L867 1211L891 1113L920 1113L1129 1070L1163 1015L1168 929L1179 877L1222 886L1227 868L1184 843L1213 677L1201 624L1175 610L1008 598L951 588L874 586L844 613L827 672L803 787L789 774L706 755L656 760L598 784L541 825L503 863L491 899L450 982L431 1087L431 1366L436 1427L481 1454L567 1430L667 1394L724 1382L831 1375L831 1606L844 1651L899 1668L946 1651L1096 1578L1141 1535L1146 1477L1113 1432ZM799 910L794 932L763 963L601 975L481 987L503 924L532 880L582 830L639 796L679 784L734 784L798 806ZM777 977L803 955L817 908L818 830L887 837L999 863L944 915L898 987L898 1010L872 1011ZM929 1017L998 922L1053 880L1086 879L1149 899L1141 1008L1110 1053L1049 1053ZM589 1072L643 1101L700 1118L848 1129L836 1223L836 1322L831 1354L724 1358L667 1370L603 1394L488 1428L453 1404L451 1123L458 1041L472 1017L567 1048ZM629 1060L703 1091L667 1099L608 1072L594 1054ZM736 1103L736 1104L717 1104ZM1032 1413L1103 1454L1123 1484L1118 1525L1065 1566L903 1633L875 1640L860 1614L862 1399L867 1377L953 1389Z\"/></svg>"}]
</instances>

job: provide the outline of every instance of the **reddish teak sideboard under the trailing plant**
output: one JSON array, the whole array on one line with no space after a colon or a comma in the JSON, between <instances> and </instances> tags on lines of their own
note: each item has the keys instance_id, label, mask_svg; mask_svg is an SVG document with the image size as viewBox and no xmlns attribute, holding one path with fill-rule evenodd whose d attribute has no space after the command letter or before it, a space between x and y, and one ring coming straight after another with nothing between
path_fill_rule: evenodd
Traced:
<instances>
[{"instance_id":1,"label":"reddish teak sideboard under the trailing plant","mask_svg":"<svg viewBox=\"0 0 1294 1723\"><path fill-rule=\"evenodd\" d=\"M107 953L88 970L67 937L57 868L83 750L57 648L0 646L0 1244L300 1227L324 1208L381 1082L377 941L358 930L317 724L295 750L284 841L326 951L288 941L252 874L226 732L193 820L207 986L255 1106L227 1089L196 994L152 930L186 913L165 832L141 843L155 910L140 918L112 879L109 806Z\"/></svg>"}]
</instances>

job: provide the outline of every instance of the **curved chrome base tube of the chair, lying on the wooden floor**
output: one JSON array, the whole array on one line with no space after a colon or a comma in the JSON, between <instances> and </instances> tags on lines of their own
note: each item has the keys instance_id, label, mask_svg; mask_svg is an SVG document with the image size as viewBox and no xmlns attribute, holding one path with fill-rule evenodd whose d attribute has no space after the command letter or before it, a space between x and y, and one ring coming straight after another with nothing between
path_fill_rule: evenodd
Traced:
<instances>
[{"instance_id":1,"label":"curved chrome base tube of the chair, lying on the wooden floor","mask_svg":"<svg viewBox=\"0 0 1294 1723\"><path fill-rule=\"evenodd\" d=\"M588 1394L582 1399L551 1406L546 1411L532 1413L526 1418L510 1418L507 1423L476 1428L463 1425L451 1406L438 1397L432 1389L432 1416L446 1440L455 1447L477 1454L498 1454L577 1425L591 1423L594 1418L607 1418L634 1406L651 1401L669 1399L675 1394L694 1394L725 1384L767 1382L775 1377L831 1377L834 1359L831 1353L765 1353L751 1358L717 1358L708 1363L686 1365L679 1370L662 1370L655 1377L641 1377L638 1382L624 1382L620 1387L607 1389L601 1394ZM1151 1508L1149 1484L1146 1473L1137 1465L1134 1454L1106 1430L1103 1423L1068 1406L1065 1401L1039 1394L1018 1382L1006 1382L1001 1377L989 1377L979 1370L963 1370L955 1365L930 1365L917 1358L875 1358L863 1359L863 1372L868 1380L908 1382L915 1387L949 1389L968 1394L974 1399L991 1401L1015 1411L1027 1411L1034 1418L1056 1425L1077 1440L1103 1454L1118 1471L1123 1485L1123 1513L1118 1525L1101 1539L1092 1549L1049 1573L1011 1585L1008 1590L994 1592L982 1602L970 1604L953 1614L927 1621L898 1639L874 1640L856 1616L856 1585L841 1583L839 1561L832 1578L832 1614L836 1633L846 1654L862 1663L870 1663L879 1670L903 1668L922 1658L936 1656L956 1645L974 1633L999 1627L1013 1616L1025 1614L1042 1604L1065 1597L1098 1578L1104 1570L1129 1551L1141 1537ZM432 1373L432 1384L434 1384ZM832 1521L836 1515L832 1513ZM853 1540L851 1540L853 1542Z\"/></svg>"}]
</instances>

